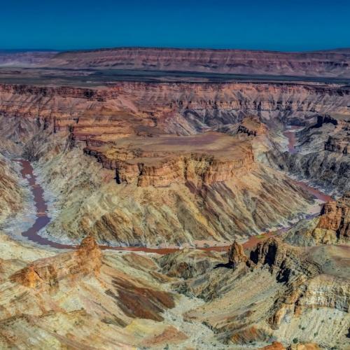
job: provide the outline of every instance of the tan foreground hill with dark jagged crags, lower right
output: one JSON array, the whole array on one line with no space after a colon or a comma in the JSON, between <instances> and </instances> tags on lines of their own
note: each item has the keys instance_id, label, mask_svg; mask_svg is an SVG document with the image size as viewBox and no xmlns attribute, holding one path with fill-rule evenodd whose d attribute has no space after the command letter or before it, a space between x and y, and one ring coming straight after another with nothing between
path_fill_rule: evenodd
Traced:
<instances>
[{"instance_id":1,"label":"tan foreground hill with dark jagged crags, lower right","mask_svg":"<svg viewBox=\"0 0 350 350\"><path fill-rule=\"evenodd\" d=\"M229 255L236 262L233 270L231 264L209 265L205 274L175 288L206 301L186 319L204 322L223 342L247 346L275 339L286 347L298 342L342 347L350 322L348 248L304 251L269 238L249 255L235 242ZM336 334L329 332L330 320Z\"/></svg>"}]
</instances>

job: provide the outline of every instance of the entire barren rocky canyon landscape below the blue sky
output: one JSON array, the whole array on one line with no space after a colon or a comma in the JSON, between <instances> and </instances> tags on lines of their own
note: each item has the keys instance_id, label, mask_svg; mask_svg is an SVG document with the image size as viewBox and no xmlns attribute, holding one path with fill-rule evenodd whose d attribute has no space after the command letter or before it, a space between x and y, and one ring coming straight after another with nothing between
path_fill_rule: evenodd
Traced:
<instances>
[{"instance_id":1,"label":"entire barren rocky canyon landscape below the blue sky","mask_svg":"<svg viewBox=\"0 0 350 350\"><path fill-rule=\"evenodd\" d=\"M0 55L1 349L348 349L348 61Z\"/></svg>"}]
</instances>

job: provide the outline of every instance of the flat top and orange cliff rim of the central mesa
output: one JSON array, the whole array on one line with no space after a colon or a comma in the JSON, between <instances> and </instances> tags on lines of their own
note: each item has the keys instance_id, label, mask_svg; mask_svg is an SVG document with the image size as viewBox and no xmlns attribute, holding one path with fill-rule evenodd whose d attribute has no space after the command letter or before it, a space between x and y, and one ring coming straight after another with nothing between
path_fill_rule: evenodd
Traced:
<instances>
[{"instance_id":1,"label":"flat top and orange cliff rim of the central mesa","mask_svg":"<svg viewBox=\"0 0 350 350\"><path fill-rule=\"evenodd\" d=\"M130 141L137 144L140 140ZM250 143L218 133L141 141L144 141L143 149L90 146L84 151L96 157L104 168L116 169L117 183L137 183L140 187L172 183L193 183L200 187L229 181L239 172L249 172L254 165Z\"/></svg>"}]
</instances>

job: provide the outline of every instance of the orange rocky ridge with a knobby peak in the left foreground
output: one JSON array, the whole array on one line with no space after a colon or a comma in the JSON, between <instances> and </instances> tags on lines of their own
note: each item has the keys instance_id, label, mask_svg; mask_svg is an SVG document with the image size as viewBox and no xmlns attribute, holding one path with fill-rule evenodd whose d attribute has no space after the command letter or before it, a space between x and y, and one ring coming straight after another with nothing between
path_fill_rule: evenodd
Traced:
<instances>
[{"instance_id":1,"label":"orange rocky ridge with a knobby peak in the left foreground","mask_svg":"<svg viewBox=\"0 0 350 350\"><path fill-rule=\"evenodd\" d=\"M76 251L31 262L15 272L12 281L29 288L57 287L60 281L97 274L102 266L102 252L92 237L86 237Z\"/></svg>"}]
</instances>

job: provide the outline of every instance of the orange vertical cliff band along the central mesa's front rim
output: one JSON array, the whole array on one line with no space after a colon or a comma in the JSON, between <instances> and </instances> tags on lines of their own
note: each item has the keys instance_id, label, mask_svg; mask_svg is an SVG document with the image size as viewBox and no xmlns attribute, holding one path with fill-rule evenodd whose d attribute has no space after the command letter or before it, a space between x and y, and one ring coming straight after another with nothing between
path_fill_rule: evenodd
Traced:
<instances>
[{"instance_id":1,"label":"orange vertical cliff band along the central mesa's front rim","mask_svg":"<svg viewBox=\"0 0 350 350\"><path fill-rule=\"evenodd\" d=\"M123 159L125 153L117 153L114 159L107 158L99 148L85 148L85 153L94 155L105 169L116 169L118 183L137 183L137 186L169 186L171 183L187 181L200 185L228 181L237 175L239 169L248 171L253 166L251 147L246 146L238 159L221 159L210 154L176 155L169 153L164 158L153 158L155 162L145 163L145 158ZM152 157L152 156L151 156Z\"/></svg>"}]
</instances>

